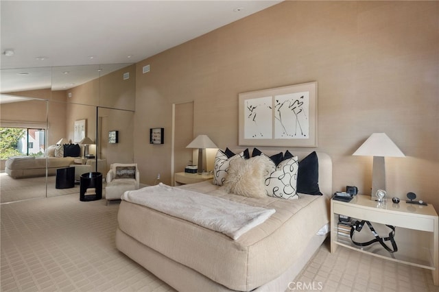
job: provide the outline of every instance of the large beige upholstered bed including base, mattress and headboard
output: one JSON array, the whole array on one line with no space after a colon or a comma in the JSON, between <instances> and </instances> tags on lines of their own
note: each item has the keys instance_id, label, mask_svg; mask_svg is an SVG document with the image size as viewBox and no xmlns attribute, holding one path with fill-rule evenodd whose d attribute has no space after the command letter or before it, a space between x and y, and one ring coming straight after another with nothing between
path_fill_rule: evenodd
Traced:
<instances>
[{"instance_id":1,"label":"large beige upholstered bed including base, mattress and headboard","mask_svg":"<svg viewBox=\"0 0 439 292\"><path fill-rule=\"evenodd\" d=\"M243 152L230 157L241 157ZM117 248L178 291L285 291L288 283L294 280L318 250L329 230L332 162L322 152L311 154L318 165L314 165L311 172L304 170L302 180L303 173L309 173L310 176L317 174L318 177L313 180L314 184L318 183L322 195L298 193L290 199L236 195L230 193L227 179L223 185L217 185L221 174L215 171L213 182L217 184L206 181L178 188L162 186L169 189L169 195L187 193L191 197L192 192L196 192L201 193L201 199L215 198L226 204L231 202L258 210L274 210L261 223L235 239L225 232L200 226L173 213L168 215L160 208L152 208L132 199L136 195L144 198L145 192L153 192L153 188L158 186L128 191L123 194L119 206ZM300 169L302 161L311 154L294 151L294 157L298 160L296 166ZM270 152L265 151L263 155L270 157ZM275 156L273 154L271 158L276 159ZM217 170L216 162L217 158ZM230 162L229 176L232 165L233 162ZM305 169L305 162L302 165ZM285 165L283 168L286 168ZM292 168L289 165L288 169ZM285 171L282 177L285 178ZM198 197L193 201L195 207L197 200ZM174 199L161 199L162 203L171 201Z\"/></svg>"}]
</instances>

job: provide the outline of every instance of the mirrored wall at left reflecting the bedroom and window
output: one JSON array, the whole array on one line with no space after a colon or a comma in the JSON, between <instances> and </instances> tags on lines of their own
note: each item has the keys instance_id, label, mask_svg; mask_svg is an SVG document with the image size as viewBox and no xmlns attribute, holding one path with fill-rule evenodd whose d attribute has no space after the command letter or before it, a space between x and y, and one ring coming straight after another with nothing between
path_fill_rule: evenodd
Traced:
<instances>
[{"instance_id":1,"label":"mirrored wall at left reflecting the bedroom and window","mask_svg":"<svg viewBox=\"0 0 439 292\"><path fill-rule=\"evenodd\" d=\"M1 203L79 193L78 182L58 187L57 169L74 167L79 181L82 171L105 177L111 163L132 162L134 100L134 64L1 70L0 127L19 141L1 146Z\"/></svg>"}]
</instances>

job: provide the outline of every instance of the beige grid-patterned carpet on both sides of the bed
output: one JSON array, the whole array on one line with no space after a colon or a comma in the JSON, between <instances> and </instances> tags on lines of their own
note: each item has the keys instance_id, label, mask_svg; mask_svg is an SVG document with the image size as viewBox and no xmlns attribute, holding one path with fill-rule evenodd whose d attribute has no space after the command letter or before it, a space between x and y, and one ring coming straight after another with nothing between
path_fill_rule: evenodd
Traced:
<instances>
[{"instance_id":1,"label":"beige grid-patterned carpet on both sides of the bed","mask_svg":"<svg viewBox=\"0 0 439 292\"><path fill-rule=\"evenodd\" d=\"M174 291L117 251L119 204L79 194L1 204L1 291ZM439 291L428 270L324 243L285 291Z\"/></svg>"}]
</instances>

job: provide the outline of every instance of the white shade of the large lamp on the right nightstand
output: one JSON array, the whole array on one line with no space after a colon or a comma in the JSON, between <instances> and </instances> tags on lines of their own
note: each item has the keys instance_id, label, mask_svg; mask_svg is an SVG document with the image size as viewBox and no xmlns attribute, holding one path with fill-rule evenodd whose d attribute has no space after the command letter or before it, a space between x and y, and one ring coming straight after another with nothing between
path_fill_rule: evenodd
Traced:
<instances>
[{"instance_id":1,"label":"white shade of the large lamp on the right nightstand","mask_svg":"<svg viewBox=\"0 0 439 292\"><path fill-rule=\"evenodd\" d=\"M385 133L373 133L352 155L405 157L403 152Z\"/></svg>"}]
</instances>

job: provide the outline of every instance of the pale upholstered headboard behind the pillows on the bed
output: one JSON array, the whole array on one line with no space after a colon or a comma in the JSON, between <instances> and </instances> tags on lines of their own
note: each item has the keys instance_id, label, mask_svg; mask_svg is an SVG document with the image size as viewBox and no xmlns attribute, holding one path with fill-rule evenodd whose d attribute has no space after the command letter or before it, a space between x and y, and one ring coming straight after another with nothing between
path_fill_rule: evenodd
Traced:
<instances>
[{"instance_id":1,"label":"pale upholstered headboard behind the pillows on the bed","mask_svg":"<svg viewBox=\"0 0 439 292\"><path fill-rule=\"evenodd\" d=\"M239 153L241 151L244 151L246 148L237 148L237 149L231 149L235 153ZM259 148L258 148L259 149ZM248 147L248 150L250 151L250 156L252 154L253 147ZM278 154L280 151L288 150L293 154L294 156L298 156L298 161L300 163L300 160L307 157L309 154L311 154L312 151L296 151L294 149L263 149L261 147L261 151L268 155L272 156L274 154ZM332 197L333 191L332 191L332 160L331 157L320 151L316 151L317 157L318 157L318 184L320 191L327 195L328 197Z\"/></svg>"}]
</instances>

